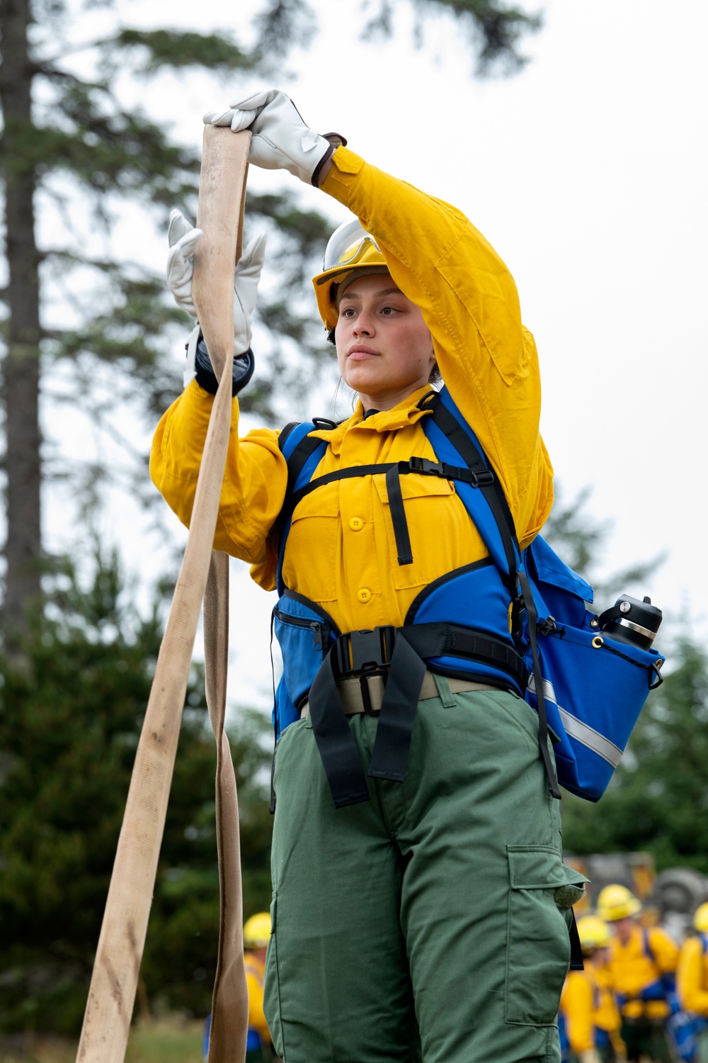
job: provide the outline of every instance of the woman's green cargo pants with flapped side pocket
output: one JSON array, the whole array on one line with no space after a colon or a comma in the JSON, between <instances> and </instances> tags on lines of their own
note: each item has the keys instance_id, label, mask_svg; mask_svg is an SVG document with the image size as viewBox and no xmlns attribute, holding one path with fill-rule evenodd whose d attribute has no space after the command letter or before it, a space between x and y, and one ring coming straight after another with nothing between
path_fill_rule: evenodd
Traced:
<instances>
[{"instance_id":1,"label":"woman's green cargo pants with flapped side pocket","mask_svg":"<svg viewBox=\"0 0 708 1063\"><path fill-rule=\"evenodd\" d=\"M334 808L309 720L280 738L264 1011L284 1063L560 1058L554 894L583 879L560 859L537 716L436 684L404 782L368 779L370 802ZM350 726L367 765L377 720Z\"/></svg>"}]
</instances>

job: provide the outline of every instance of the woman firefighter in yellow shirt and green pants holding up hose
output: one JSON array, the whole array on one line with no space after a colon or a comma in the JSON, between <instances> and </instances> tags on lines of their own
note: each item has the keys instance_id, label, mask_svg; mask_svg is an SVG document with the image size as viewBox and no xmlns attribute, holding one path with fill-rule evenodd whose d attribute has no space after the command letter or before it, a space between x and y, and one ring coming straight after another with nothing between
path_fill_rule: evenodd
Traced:
<instances>
[{"instance_id":1,"label":"woman firefighter in yellow shirt and green pants holding up hose","mask_svg":"<svg viewBox=\"0 0 708 1063\"><path fill-rule=\"evenodd\" d=\"M279 594L275 1049L286 1063L555 1060L582 876L562 862L553 754L522 697L518 590L468 512L484 491L523 547L553 497L514 281L460 210L317 135L282 92L205 121L251 129L254 165L358 219L314 279L355 412L240 439L235 398L214 539ZM198 238L173 215L168 282L192 313ZM262 254L254 241L237 266L235 395ZM185 524L215 390L192 347L195 379L151 461Z\"/></svg>"}]
</instances>

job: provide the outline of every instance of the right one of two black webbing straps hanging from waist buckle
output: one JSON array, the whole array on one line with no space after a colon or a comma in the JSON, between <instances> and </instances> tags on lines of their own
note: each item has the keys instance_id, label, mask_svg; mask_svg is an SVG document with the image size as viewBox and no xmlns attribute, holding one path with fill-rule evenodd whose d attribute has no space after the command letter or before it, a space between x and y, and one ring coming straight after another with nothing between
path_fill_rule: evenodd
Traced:
<instances>
[{"instance_id":1,"label":"right one of two black webbing straps hanging from waist buckle","mask_svg":"<svg viewBox=\"0 0 708 1063\"><path fill-rule=\"evenodd\" d=\"M418 708L426 663L398 634L381 703L381 714L368 774L374 779L402 782L405 776L411 733Z\"/></svg>"}]
</instances>

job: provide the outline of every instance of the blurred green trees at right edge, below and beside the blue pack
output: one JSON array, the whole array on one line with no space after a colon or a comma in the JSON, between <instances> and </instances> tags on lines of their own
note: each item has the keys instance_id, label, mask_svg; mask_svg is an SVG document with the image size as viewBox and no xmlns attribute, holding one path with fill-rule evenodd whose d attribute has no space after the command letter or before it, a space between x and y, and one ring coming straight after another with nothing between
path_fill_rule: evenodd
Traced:
<instances>
[{"instance_id":1,"label":"blurred green trees at right edge, below and beside the blue pack","mask_svg":"<svg viewBox=\"0 0 708 1063\"><path fill-rule=\"evenodd\" d=\"M708 874L708 655L683 637L671 660L599 805L564 794L564 843L577 854L649 851L659 870Z\"/></svg>"}]
</instances>

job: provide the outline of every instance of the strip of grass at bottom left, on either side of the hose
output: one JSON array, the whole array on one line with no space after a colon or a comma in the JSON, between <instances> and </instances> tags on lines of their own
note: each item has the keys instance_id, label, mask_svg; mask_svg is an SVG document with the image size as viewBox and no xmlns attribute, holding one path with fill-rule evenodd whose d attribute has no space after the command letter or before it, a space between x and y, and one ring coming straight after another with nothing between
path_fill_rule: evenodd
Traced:
<instances>
[{"instance_id":1,"label":"strip of grass at bottom left, on either side of the hose","mask_svg":"<svg viewBox=\"0 0 708 1063\"><path fill-rule=\"evenodd\" d=\"M202 1063L201 1022L163 1018L135 1027L125 1063ZM22 1039L15 1047L0 1044L0 1063L74 1063L76 1042L57 1037Z\"/></svg>"}]
</instances>

